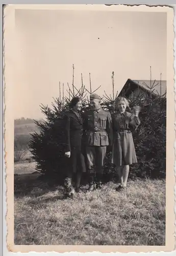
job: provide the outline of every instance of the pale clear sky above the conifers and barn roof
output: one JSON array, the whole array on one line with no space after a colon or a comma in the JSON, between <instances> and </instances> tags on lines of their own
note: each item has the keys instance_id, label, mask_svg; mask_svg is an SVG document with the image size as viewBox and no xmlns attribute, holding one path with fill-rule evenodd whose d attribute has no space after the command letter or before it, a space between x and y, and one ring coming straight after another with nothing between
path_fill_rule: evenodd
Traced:
<instances>
[{"instance_id":1,"label":"pale clear sky above the conifers and barn roof","mask_svg":"<svg viewBox=\"0 0 176 256\"><path fill-rule=\"evenodd\" d=\"M120 92L128 78L166 80L166 13L16 10L14 118L43 118L40 104L52 106L59 81L100 96Z\"/></svg>"}]
</instances>

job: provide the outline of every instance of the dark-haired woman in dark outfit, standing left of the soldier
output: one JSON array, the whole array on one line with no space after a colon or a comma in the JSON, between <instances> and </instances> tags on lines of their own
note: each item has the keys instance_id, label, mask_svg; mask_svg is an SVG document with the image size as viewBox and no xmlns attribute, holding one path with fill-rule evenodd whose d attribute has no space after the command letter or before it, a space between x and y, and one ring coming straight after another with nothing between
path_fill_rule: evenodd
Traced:
<instances>
[{"instance_id":1,"label":"dark-haired woman in dark outfit, standing left of the soldier","mask_svg":"<svg viewBox=\"0 0 176 256\"><path fill-rule=\"evenodd\" d=\"M83 120L81 117L82 100L72 98L70 111L65 115L65 156L69 158L67 179L76 176L76 191L80 190L82 172L86 172L85 160L82 154Z\"/></svg>"}]
</instances>

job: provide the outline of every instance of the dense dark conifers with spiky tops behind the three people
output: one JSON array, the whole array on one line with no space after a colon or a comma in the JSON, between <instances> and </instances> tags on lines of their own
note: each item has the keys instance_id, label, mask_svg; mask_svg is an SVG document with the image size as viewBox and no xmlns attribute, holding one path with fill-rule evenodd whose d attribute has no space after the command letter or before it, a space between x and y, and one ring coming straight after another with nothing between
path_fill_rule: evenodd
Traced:
<instances>
[{"instance_id":1,"label":"dense dark conifers with spiky tops behind the three people","mask_svg":"<svg viewBox=\"0 0 176 256\"><path fill-rule=\"evenodd\" d=\"M114 73L112 73L113 94L112 97L105 95L102 98L102 108L114 112L114 102L117 97L114 94ZM155 86L155 84L153 85ZM54 99L53 108L41 105L41 112L45 115L45 121L35 121L39 133L31 135L29 143L33 159L37 162L37 169L45 177L57 177L62 180L67 166L67 159L64 157L64 123L63 116L69 109L69 101L73 96L80 96L83 99L83 111L89 108L88 91L83 85L78 90L72 83L72 89L68 84L68 97L61 99L61 85L59 98ZM64 88L64 85L63 85ZM98 88L97 88L98 89ZM96 90L97 90L96 89ZM150 88L152 91L152 88ZM95 90L95 91L96 91ZM95 92L94 91L94 92ZM166 95L151 97L137 95L130 100L130 106L141 106L139 118L141 124L138 130L133 133L138 163L131 166L130 178L165 178L166 174ZM110 164L111 152L107 153L105 159L105 179L111 180L114 177L114 166Z\"/></svg>"}]
</instances>

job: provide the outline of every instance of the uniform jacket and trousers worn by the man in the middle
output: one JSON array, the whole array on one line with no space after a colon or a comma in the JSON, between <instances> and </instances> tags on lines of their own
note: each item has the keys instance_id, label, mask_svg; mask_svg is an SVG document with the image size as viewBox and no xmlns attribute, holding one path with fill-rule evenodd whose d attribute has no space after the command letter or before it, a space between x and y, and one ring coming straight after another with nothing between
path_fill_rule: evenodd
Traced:
<instances>
[{"instance_id":1,"label":"uniform jacket and trousers worn by the man in the middle","mask_svg":"<svg viewBox=\"0 0 176 256\"><path fill-rule=\"evenodd\" d=\"M86 132L86 159L90 173L103 172L106 146L112 145L112 120L109 112L102 108L90 110L84 114L84 130Z\"/></svg>"}]
</instances>

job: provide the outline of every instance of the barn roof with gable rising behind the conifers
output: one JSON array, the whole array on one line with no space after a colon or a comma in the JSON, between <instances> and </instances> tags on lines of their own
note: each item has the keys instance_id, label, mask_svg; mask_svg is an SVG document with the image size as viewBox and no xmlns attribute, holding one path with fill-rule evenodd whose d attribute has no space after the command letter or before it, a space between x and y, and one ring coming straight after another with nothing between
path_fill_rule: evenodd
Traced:
<instances>
[{"instance_id":1,"label":"barn roof with gable rising behind the conifers","mask_svg":"<svg viewBox=\"0 0 176 256\"><path fill-rule=\"evenodd\" d=\"M150 84L152 85L152 90L150 90ZM119 96L124 93L125 96L129 96L132 91L140 88L147 94L152 92L152 96L156 97L157 95L164 95L166 93L166 81L165 80L132 80L128 79L125 82L122 90L119 93Z\"/></svg>"}]
</instances>

